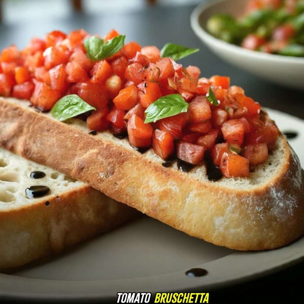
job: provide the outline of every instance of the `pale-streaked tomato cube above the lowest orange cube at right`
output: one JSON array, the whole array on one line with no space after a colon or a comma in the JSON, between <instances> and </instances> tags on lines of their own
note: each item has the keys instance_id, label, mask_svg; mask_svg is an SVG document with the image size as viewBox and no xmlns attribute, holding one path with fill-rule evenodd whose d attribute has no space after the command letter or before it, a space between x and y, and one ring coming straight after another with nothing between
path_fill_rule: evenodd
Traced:
<instances>
[{"instance_id":1,"label":"pale-streaked tomato cube above the lowest orange cube at right","mask_svg":"<svg viewBox=\"0 0 304 304\"><path fill-rule=\"evenodd\" d=\"M240 146L244 140L244 129L244 124L237 119L230 119L226 121L221 128L226 142L237 143Z\"/></svg>"}]
</instances>

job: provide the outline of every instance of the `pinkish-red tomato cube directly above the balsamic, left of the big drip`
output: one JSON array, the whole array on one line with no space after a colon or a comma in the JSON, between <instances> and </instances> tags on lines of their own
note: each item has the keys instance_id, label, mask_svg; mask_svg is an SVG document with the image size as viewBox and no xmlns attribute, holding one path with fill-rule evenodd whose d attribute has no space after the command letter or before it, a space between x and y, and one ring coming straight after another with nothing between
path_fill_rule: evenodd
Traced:
<instances>
[{"instance_id":1,"label":"pinkish-red tomato cube directly above the balsamic, left of the big drip","mask_svg":"<svg viewBox=\"0 0 304 304\"><path fill-rule=\"evenodd\" d=\"M177 144L177 157L186 163L200 164L204 158L204 153L205 147L185 142Z\"/></svg>"}]
</instances>

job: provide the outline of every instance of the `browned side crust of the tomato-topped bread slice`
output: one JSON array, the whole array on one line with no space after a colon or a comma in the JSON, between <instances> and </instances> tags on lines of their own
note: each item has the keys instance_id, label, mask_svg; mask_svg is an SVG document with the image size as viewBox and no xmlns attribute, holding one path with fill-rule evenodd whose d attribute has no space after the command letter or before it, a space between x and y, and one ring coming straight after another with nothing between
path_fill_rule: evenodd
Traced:
<instances>
[{"instance_id":1,"label":"browned side crust of the tomato-topped bread slice","mask_svg":"<svg viewBox=\"0 0 304 304\"><path fill-rule=\"evenodd\" d=\"M106 135L88 135L12 99L0 99L0 130L6 149L213 244L272 249L304 233L304 174L282 134L282 169L266 184L244 190L164 168Z\"/></svg>"}]
</instances>

